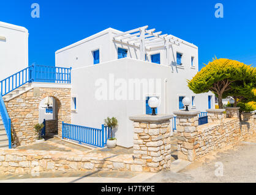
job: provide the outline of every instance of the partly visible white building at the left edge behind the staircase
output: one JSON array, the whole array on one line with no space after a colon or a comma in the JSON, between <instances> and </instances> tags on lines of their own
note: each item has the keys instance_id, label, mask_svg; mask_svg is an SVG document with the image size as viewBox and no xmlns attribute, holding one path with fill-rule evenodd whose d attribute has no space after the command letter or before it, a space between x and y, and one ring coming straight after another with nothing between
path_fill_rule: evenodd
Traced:
<instances>
[{"instance_id":1,"label":"partly visible white building at the left edge behind the staircase","mask_svg":"<svg viewBox=\"0 0 256 195\"><path fill-rule=\"evenodd\" d=\"M28 67L28 30L0 21L0 80Z\"/></svg>"}]
</instances>

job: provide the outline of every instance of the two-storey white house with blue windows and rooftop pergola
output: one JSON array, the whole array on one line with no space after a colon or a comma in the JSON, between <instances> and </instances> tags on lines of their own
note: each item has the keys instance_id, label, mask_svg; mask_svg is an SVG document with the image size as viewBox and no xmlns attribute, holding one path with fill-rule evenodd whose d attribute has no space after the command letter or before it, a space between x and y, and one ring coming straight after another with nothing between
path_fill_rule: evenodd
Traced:
<instances>
[{"instance_id":1,"label":"two-storey white house with blue windows and rooftop pergola","mask_svg":"<svg viewBox=\"0 0 256 195\"><path fill-rule=\"evenodd\" d=\"M213 93L194 94L187 87L198 72L197 46L154 31L109 28L56 51L56 66L72 66L72 124L100 128L115 116L118 145L131 147L129 116L151 112L150 96L160 99L157 113L184 109L185 96L192 99L190 109L214 108Z\"/></svg>"}]
</instances>

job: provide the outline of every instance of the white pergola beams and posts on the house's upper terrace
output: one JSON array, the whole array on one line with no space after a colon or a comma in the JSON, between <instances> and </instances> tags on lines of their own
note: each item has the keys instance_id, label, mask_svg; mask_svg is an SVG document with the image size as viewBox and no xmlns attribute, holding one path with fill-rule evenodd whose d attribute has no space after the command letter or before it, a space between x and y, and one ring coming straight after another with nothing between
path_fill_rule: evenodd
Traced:
<instances>
[{"instance_id":1,"label":"white pergola beams and posts on the house's upper terrace","mask_svg":"<svg viewBox=\"0 0 256 195\"><path fill-rule=\"evenodd\" d=\"M122 32L113 36L113 41L139 48L140 60L145 60L146 51L162 47L165 47L167 58L170 59L170 44L176 44L179 46L183 41L173 35L161 35L161 31L154 32L155 30L156 29L148 30L148 26L138 27L137 29Z\"/></svg>"}]
</instances>

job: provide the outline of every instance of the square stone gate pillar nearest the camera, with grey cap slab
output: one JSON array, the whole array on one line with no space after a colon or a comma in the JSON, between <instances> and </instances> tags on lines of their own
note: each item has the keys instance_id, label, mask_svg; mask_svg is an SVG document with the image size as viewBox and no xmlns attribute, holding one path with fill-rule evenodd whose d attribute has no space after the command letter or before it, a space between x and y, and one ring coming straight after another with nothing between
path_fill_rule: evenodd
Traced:
<instances>
[{"instance_id":1,"label":"square stone gate pillar nearest the camera, with grey cap slab","mask_svg":"<svg viewBox=\"0 0 256 195\"><path fill-rule=\"evenodd\" d=\"M171 165L170 119L172 115L142 115L134 121L134 165L132 171L157 172Z\"/></svg>"}]
</instances>

